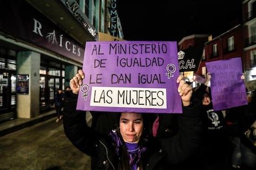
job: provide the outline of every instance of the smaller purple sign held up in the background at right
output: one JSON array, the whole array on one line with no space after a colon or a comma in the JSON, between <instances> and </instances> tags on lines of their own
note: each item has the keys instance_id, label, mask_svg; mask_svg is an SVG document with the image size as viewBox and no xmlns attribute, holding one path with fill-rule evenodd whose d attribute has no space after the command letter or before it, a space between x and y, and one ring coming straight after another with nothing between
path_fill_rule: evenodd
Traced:
<instances>
[{"instance_id":1,"label":"smaller purple sign held up in the background at right","mask_svg":"<svg viewBox=\"0 0 256 170\"><path fill-rule=\"evenodd\" d=\"M211 97L213 110L247 105L241 58L205 63L211 73Z\"/></svg>"}]
</instances>

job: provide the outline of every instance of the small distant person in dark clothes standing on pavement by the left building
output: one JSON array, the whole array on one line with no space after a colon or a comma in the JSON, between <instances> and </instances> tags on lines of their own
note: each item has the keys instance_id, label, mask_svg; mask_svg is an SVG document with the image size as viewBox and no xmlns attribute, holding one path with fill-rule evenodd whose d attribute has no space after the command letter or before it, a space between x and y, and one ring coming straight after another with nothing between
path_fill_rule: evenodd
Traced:
<instances>
[{"instance_id":1,"label":"small distant person in dark clothes standing on pavement by the left building","mask_svg":"<svg viewBox=\"0 0 256 170\"><path fill-rule=\"evenodd\" d=\"M62 107L63 107L64 95L62 89L58 89L58 91L54 94L53 102L55 104L55 110L57 113L56 122L62 119Z\"/></svg>"}]
</instances>

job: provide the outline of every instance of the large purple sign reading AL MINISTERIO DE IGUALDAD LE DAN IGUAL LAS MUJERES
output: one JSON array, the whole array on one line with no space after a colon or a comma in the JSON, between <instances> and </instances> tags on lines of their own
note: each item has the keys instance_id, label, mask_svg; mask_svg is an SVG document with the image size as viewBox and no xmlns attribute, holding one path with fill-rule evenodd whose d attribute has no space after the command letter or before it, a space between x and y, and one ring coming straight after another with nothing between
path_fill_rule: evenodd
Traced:
<instances>
[{"instance_id":1,"label":"large purple sign reading AL MINISTERIO DE IGUALDAD LE DAN IGUAL LAS MUJERES","mask_svg":"<svg viewBox=\"0 0 256 170\"><path fill-rule=\"evenodd\" d=\"M176 42L86 42L77 110L182 113Z\"/></svg>"}]
</instances>

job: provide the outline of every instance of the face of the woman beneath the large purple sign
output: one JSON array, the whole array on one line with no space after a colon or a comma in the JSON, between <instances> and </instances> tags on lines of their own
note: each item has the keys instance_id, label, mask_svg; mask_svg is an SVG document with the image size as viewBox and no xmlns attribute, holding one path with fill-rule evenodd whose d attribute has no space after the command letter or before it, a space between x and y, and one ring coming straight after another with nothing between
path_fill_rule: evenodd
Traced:
<instances>
[{"instance_id":1,"label":"face of the woman beneath the large purple sign","mask_svg":"<svg viewBox=\"0 0 256 170\"><path fill-rule=\"evenodd\" d=\"M120 133L124 142L138 143L143 132L142 113L121 113Z\"/></svg>"}]
</instances>

